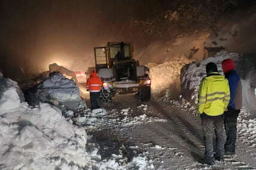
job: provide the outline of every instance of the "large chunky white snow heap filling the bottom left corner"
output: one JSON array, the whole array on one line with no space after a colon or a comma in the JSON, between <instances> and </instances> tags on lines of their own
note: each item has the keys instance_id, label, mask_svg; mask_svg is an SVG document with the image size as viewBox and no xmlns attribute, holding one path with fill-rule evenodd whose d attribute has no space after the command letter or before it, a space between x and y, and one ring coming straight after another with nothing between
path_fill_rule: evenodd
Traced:
<instances>
[{"instance_id":1,"label":"large chunky white snow heap filling the bottom left corner","mask_svg":"<svg viewBox=\"0 0 256 170\"><path fill-rule=\"evenodd\" d=\"M11 97L10 97L11 99ZM89 167L86 132L46 103L28 104L1 115L2 169L82 169Z\"/></svg>"}]
</instances>

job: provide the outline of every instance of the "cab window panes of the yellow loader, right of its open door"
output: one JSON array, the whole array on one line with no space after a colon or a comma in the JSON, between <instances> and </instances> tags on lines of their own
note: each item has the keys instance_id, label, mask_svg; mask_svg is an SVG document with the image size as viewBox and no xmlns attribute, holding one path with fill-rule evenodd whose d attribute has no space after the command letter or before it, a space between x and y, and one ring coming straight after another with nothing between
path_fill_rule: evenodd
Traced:
<instances>
[{"instance_id":1,"label":"cab window panes of the yellow loader, right of its open door","mask_svg":"<svg viewBox=\"0 0 256 170\"><path fill-rule=\"evenodd\" d=\"M118 57L121 53L121 44L110 44L110 58ZM124 57L131 58L130 44L124 44Z\"/></svg>"}]
</instances>

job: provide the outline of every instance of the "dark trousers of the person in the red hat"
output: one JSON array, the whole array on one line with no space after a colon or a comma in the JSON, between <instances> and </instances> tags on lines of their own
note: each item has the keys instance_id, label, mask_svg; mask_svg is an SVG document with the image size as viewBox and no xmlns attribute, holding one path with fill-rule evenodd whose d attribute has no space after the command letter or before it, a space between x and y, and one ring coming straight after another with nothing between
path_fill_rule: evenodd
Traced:
<instances>
[{"instance_id":1,"label":"dark trousers of the person in the red hat","mask_svg":"<svg viewBox=\"0 0 256 170\"><path fill-rule=\"evenodd\" d=\"M227 112L224 112L225 115L225 130L227 135L227 140L225 143L225 152L235 153L236 151L236 133L237 133L237 117L240 113L240 110L233 109L232 107L228 108Z\"/></svg>"}]
</instances>

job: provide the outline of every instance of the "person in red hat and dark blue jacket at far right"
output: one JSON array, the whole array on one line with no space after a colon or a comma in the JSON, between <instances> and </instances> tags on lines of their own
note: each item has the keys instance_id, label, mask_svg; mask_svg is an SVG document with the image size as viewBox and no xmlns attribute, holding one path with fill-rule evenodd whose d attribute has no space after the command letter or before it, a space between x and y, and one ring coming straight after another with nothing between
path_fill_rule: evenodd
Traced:
<instances>
[{"instance_id":1,"label":"person in red hat and dark blue jacket at far right","mask_svg":"<svg viewBox=\"0 0 256 170\"><path fill-rule=\"evenodd\" d=\"M237 117L242 108L242 84L238 73L234 70L234 62L230 58L222 61L222 70L230 86L230 102L225 115L225 130L227 140L225 143L225 154L236 153Z\"/></svg>"}]
</instances>

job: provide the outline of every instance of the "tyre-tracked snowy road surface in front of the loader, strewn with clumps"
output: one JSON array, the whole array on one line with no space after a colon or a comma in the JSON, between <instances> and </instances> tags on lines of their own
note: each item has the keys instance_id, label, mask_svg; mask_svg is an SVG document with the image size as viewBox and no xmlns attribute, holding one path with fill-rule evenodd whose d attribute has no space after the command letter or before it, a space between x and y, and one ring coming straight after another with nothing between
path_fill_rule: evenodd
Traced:
<instances>
[{"instance_id":1,"label":"tyre-tracked snowy road surface in front of the loader, strewn with clumps","mask_svg":"<svg viewBox=\"0 0 256 170\"><path fill-rule=\"evenodd\" d=\"M155 169L256 169L256 119L246 110L239 116L236 155L225 156L224 163L203 166L198 163L204 156L201 119L185 100L159 98L141 103L134 94L125 94L103 107L106 115L91 122L87 132L98 143L104 141L103 146L124 144L143 153Z\"/></svg>"}]
</instances>

